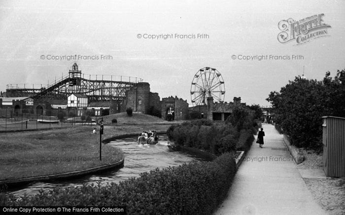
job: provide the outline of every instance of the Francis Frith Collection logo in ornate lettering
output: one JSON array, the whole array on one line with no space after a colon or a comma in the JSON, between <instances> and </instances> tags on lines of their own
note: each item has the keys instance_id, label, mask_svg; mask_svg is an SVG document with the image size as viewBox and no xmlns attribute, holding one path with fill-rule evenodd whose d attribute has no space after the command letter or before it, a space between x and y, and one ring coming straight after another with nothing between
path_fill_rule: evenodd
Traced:
<instances>
[{"instance_id":1,"label":"Francis Frith Collection logo in ornate lettering","mask_svg":"<svg viewBox=\"0 0 345 215\"><path fill-rule=\"evenodd\" d=\"M292 18L281 20L278 23L279 30L282 30L278 34L278 41L280 43L296 41L295 45L301 45L319 37L329 36L327 28L331 26L323 22L323 15L323 13L316 14L299 21Z\"/></svg>"}]
</instances>

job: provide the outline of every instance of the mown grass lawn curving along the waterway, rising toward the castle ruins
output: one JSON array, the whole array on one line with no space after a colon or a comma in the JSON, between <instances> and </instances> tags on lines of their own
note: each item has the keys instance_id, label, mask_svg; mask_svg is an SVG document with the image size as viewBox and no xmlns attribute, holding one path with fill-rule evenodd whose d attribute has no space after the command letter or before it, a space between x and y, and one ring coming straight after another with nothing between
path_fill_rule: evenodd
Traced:
<instances>
[{"instance_id":1,"label":"mown grass lawn curving along the waterway, rising toward the castle ruins","mask_svg":"<svg viewBox=\"0 0 345 215\"><path fill-rule=\"evenodd\" d=\"M121 113L122 114L122 113ZM122 115L113 114L120 121ZM142 131L167 131L170 124L161 119L151 123L144 114L138 114L136 123L108 124L105 120L103 139L110 136L140 133ZM151 116L148 116L151 117ZM104 117L105 118L105 117ZM131 118L134 122L136 116ZM174 122L176 123L176 122ZM92 134L93 128L97 134ZM99 126L74 126L62 129L23 133L0 134L0 180L59 174L114 163L122 158L122 151L102 144L102 161L99 161Z\"/></svg>"}]
</instances>

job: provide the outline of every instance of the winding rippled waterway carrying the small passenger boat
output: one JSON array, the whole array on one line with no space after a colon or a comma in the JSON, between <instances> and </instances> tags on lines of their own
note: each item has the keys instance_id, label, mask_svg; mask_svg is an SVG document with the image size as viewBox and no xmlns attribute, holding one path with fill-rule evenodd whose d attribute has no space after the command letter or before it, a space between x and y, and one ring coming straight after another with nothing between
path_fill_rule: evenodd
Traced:
<instances>
[{"instance_id":1,"label":"winding rippled waterway carrying the small passenger boat","mask_svg":"<svg viewBox=\"0 0 345 215\"><path fill-rule=\"evenodd\" d=\"M95 173L54 182L34 182L25 186L11 188L6 193L15 196L22 196L24 193L34 195L39 190L49 190L56 187L68 188L77 187L83 184L96 184L127 180L131 177L138 177L140 173L158 168L178 166L191 161L208 161L208 158L187 152L174 152L168 148L168 138L166 135L159 137L159 142L155 145L138 145L136 136L118 139L107 144L120 148L125 156L123 167L113 170Z\"/></svg>"}]
</instances>

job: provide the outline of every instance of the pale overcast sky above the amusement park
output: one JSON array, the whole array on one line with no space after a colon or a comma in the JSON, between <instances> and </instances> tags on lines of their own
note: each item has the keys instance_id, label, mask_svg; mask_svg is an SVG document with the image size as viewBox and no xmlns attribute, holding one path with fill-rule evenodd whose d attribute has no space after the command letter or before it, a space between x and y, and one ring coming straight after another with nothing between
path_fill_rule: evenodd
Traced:
<instances>
[{"instance_id":1,"label":"pale overcast sky above the amusement park","mask_svg":"<svg viewBox=\"0 0 345 215\"><path fill-rule=\"evenodd\" d=\"M89 56L76 60L84 74L138 77L160 98L190 105L195 74L215 68L226 102L241 97L266 107L269 93L296 76L322 80L345 68L344 11L337 0L0 0L0 90L51 83L68 74L75 60L67 56L76 54ZM278 41L280 21L318 14L328 26L324 36L299 45Z\"/></svg>"}]
</instances>

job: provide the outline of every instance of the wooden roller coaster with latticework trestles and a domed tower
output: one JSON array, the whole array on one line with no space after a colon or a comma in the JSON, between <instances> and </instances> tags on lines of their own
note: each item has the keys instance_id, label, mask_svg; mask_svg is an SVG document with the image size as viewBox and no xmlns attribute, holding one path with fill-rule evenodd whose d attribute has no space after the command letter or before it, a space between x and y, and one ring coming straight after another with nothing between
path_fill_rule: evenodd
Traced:
<instances>
[{"instance_id":1,"label":"wooden roller coaster with latticework trestles and a domed tower","mask_svg":"<svg viewBox=\"0 0 345 215\"><path fill-rule=\"evenodd\" d=\"M110 79L109 79L110 78ZM43 87L35 84L7 84L6 97L32 97L37 100L67 100L72 93L85 94L90 102L116 100L122 103L126 91L142 79L127 76L86 75L73 64L67 76Z\"/></svg>"}]
</instances>

